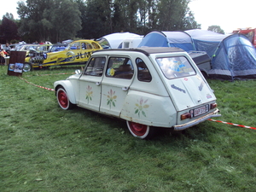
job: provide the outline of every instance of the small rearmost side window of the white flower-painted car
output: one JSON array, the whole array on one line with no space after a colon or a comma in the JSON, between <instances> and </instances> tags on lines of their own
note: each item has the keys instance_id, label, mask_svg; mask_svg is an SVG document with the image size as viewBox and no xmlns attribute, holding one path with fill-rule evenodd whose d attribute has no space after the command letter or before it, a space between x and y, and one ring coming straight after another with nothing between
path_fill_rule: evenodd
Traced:
<instances>
[{"instance_id":1,"label":"small rearmost side window of the white flower-painted car","mask_svg":"<svg viewBox=\"0 0 256 192\"><path fill-rule=\"evenodd\" d=\"M136 59L137 65L137 79L139 81L150 82L152 80L152 76L149 73L148 67L146 66L145 62L137 58Z\"/></svg>"}]
</instances>

